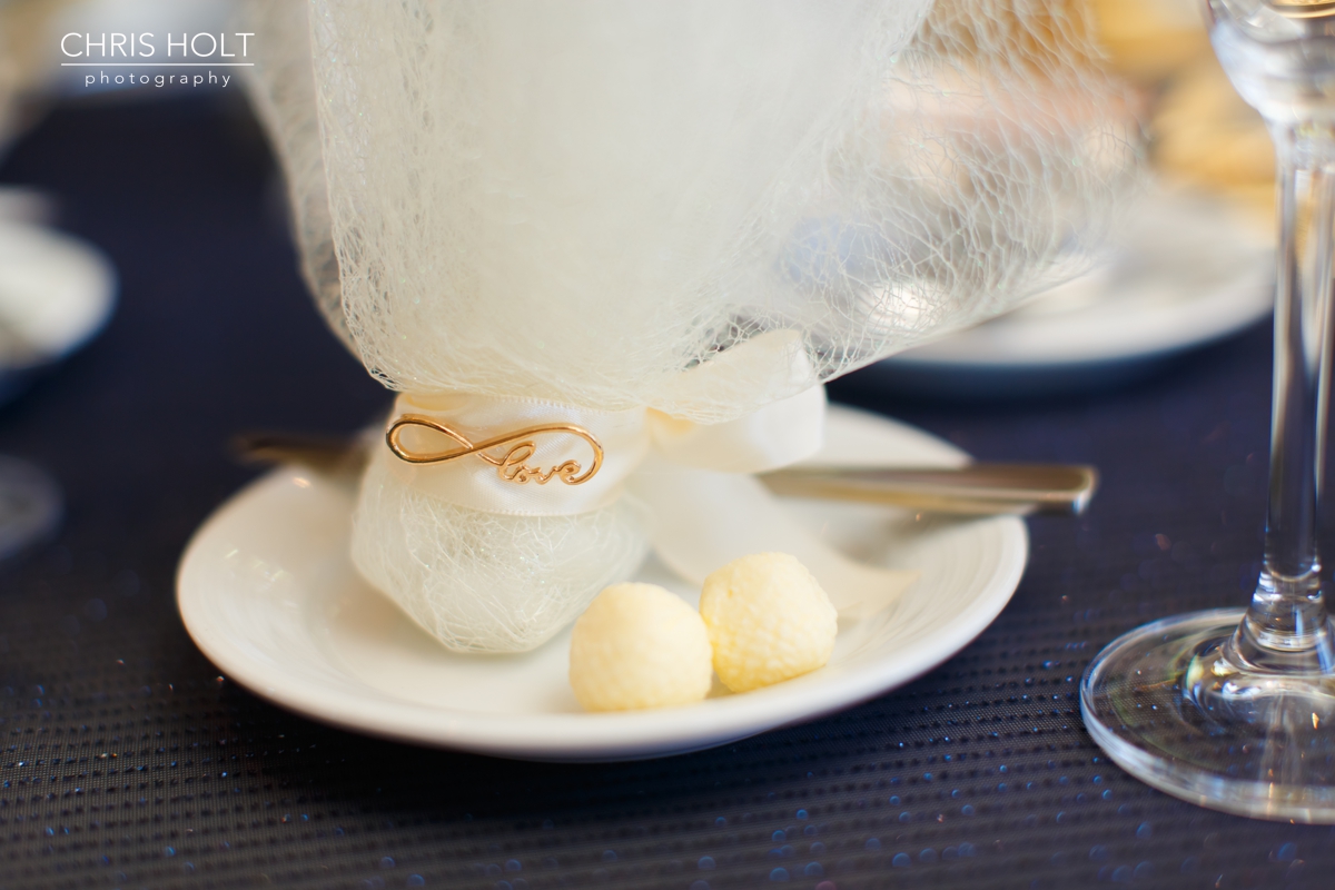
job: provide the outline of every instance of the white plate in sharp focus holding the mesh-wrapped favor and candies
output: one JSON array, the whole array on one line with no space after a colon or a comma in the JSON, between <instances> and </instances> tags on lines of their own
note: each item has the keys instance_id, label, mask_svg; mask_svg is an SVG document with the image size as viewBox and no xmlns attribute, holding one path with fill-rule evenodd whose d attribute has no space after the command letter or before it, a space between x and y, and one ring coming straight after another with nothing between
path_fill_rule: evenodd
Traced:
<instances>
[{"instance_id":1,"label":"white plate in sharp focus holding the mesh-wrapped favor and candies","mask_svg":"<svg viewBox=\"0 0 1335 890\"><path fill-rule=\"evenodd\" d=\"M829 440L826 460L965 459L918 430L840 408ZM566 682L569 631L523 655L446 651L350 564L352 492L295 468L252 483L204 523L186 550L176 596L186 628L224 674L315 719L499 757L614 761L722 745L906 683L987 627L1024 571L1028 536L1012 516L945 522L790 503L852 555L920 568L921 580L880 615L841 627L826 667L680 709L581 711ZM698 596L653 562L641 578Z\"/></svg>"}]
</instances>

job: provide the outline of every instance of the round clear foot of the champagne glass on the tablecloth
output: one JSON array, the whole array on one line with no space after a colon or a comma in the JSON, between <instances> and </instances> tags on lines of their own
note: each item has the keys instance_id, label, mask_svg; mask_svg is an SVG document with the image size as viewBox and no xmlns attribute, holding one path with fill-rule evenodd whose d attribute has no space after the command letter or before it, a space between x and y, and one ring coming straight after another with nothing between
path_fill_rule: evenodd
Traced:
<instances>
[{"instance_id":1,"label":"round clear foot of the champagne glass on the tablecloth","mask_svg":"<svg viewBox=\"0 0 1335 890\"><path fill-rule=\"evenodd\" d=\"M1239 667L1246 610L1177 615L1113 640L1080 686L1085 727L1160 791L1259 819L1335 823L1335 674Z\"/></svg>"}]
</instances>

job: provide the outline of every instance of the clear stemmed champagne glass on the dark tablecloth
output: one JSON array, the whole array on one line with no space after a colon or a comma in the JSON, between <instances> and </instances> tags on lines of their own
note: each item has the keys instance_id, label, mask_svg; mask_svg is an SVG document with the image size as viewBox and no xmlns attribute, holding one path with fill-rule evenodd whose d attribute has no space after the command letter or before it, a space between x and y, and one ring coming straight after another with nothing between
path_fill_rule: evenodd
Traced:
<instances>
[{"instance_id":1,"label":"clear stemmed champagne glass on the dark tablecloth","mask_svg":"<svg viewBox=\"0 0 1335 890\"><path fill-rule=\"evenodd\" d=\"M1266 560L1246 611L1179 615L1111 643L1085 671L1080 703L1108 755L1168 794L1335 823L1335 639L1316 552L1335 288L1335 0L1207 0L1207 16L1279 161Z\"/></svg>"}]
</instances>

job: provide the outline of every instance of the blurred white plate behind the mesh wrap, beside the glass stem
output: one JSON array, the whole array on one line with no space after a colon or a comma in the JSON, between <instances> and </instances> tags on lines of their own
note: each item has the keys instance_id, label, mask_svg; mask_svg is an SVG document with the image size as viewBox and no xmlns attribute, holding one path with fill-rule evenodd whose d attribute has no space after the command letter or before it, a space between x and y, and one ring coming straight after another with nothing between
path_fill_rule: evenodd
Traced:
<instances>
[{"instance_id":1,"label":"blurred white plate behind the mesh wrap, beside the glass stem","mask_svg":"<svg viewBox=\"0 0 1335 890\"><path fill-rule=\"evenodd\" d=\"M1113 383L1264 318L1274 238L1199 195L1152 189L1088 275L1015 312L870 371L921 394L1021 394Z\"/></svg>"}]
</instances>

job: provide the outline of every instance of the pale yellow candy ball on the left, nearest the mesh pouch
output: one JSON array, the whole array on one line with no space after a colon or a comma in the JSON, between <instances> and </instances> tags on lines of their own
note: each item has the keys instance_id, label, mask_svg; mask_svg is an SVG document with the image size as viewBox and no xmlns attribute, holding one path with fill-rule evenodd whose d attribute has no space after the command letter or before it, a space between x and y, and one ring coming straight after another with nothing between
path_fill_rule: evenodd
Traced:
<instances>
[{"instance_id":1,"label":"pale yellow candy ball on the left, nearest the mesh pouch","mask_svg":"<svg viewBox=\"0 0 1335 890\"><path fill-rule=\"evenodd\" d=\"M700 614L657 584L613 584L570 636L570 687L590 711L690 705L710 686Z\"/></svg>"}]
</instances>

